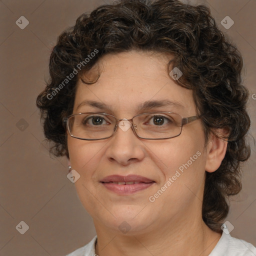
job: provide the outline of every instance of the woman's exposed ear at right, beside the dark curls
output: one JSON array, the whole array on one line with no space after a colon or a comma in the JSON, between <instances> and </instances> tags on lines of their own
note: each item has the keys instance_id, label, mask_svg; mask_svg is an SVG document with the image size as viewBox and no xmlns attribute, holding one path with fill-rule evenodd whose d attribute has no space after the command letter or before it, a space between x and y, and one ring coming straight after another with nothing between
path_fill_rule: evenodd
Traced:
<instances>
[{"instance_id":1,"label":"woman's exposed ear at right, beside the dark curls","mask_svg":"<svg viewBox=\"0 0 256 256\"><path fill-rule=\"evenodd\" d=\"M217 134L221 134L219 137L215 134L211 134L207 143L207 157L205 163L205 170L208 172L215 171L221 164L227 147L227 140L222 137L226 137L226 130L217 129Z\"/></svg>"}]
</instances>

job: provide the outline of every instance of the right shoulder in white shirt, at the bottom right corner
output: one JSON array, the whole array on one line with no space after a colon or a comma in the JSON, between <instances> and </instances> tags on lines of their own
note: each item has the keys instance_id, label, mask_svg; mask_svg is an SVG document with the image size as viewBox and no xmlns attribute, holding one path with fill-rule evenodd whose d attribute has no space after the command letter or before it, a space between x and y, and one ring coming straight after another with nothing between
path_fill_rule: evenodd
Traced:
<instances>
[{"instance_id":1,"label":"right shoulder in white shirt, at the bottom right corner","mask_svg":"<svg viewBox=\"0 0 256 256\"><path fill-rule=\"evenodd\" d=\"M255 256L256 247L242 239L232 237L229 233L222 235L209 256Z\"/></svg>"}]
</instances>

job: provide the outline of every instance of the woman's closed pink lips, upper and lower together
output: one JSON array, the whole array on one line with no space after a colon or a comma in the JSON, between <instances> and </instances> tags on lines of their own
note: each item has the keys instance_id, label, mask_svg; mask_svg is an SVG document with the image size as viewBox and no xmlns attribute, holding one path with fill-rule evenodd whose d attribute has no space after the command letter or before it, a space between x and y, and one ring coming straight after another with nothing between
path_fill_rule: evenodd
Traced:
<instances>
[{"instance_id":1,"label":"woman's closed pink lips, upper and lower together","mask_svg":"<svg viewBox=\"0 0 256 256\"><path fill-rule=\"evenodd\" d=\"M136 184L116 184L113 182L136 182ZM151 186L155 181L139 175L110 175L100 180L101 184L119 195L132 194Z\"/></svg>"}]
</instances>

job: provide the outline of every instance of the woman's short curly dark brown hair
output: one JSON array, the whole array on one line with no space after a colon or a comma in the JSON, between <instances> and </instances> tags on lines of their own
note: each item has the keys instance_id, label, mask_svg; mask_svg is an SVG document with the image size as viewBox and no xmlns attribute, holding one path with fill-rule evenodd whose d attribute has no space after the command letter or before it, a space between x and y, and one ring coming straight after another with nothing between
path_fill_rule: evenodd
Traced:
<instances>
[{"instance_id":1,"label":"woman's short curly dark brown hair","mask_svg":"<svg viewBox=\"0 0 256 256\"><path fill-rule=\"evenodd\" d=\"M229 209L226 197L241 190L240 163L250 155L246 142L250 119L248 90L241 84L241 55L217 28L206 6L178 0L119 0L80 15L73 27L59 35L50 55L49 82L36 101L45 137L54 142L51 152L68 157L62 118L72 113L77 79L103 55L131 49L174 56L172 64L183 72L177 82L193 90L206 142L210 133L219 136L218 128L228 130L220 167L206 172L202 204L204 222L220 232L220 221ZM91 52L97 54L85 63ZM74 77L65 80L71 73Z\"/></svg>"}]
</instances>

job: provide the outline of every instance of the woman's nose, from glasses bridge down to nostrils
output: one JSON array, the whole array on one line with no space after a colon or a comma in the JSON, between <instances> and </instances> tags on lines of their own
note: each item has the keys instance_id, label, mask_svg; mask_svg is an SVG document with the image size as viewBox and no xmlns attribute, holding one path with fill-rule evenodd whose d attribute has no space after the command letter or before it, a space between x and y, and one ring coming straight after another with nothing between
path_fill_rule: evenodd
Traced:
<instances>
[{"instance_id":1,"label":"woman's nose, from glasses bridge down to nostrils","mask_svg":"<svg viewBox=\"0 0 256 256\"><path fill-rule=\"evenodd\" d=\"M134 134L128 119L118 121L116 131L107 144L106 157L121 165L141 161L145 156L143 143Z\"/></svg>"}]
</instances>

